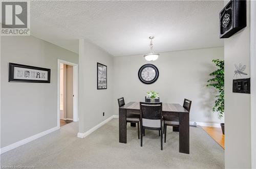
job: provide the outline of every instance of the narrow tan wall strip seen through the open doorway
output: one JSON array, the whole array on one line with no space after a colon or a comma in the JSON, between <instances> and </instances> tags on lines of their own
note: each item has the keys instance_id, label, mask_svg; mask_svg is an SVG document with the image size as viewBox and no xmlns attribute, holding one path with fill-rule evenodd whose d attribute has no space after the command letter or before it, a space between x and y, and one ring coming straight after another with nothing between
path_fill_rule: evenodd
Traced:
<instances>
[{"instance_id":1,"label":"narrow tan wall strip seen through the open doorway","mask_svg":"<svg viewBox=\"0 0 256 169\"><path fill-rule=\"evenodd\" d=\"M67 65L66 72L66 118L73 119L73 66Z\"/></svg>"}]
</instances>

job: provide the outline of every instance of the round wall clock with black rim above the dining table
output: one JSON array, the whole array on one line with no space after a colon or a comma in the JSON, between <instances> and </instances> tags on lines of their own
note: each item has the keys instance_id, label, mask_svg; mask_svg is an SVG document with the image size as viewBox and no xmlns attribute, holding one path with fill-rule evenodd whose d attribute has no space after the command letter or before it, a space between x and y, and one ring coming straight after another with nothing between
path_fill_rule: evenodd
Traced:
<instances>
[{"instance_id":1,"label":"round wall clock with black rim above the dining table","mask_svg":"<svg viewBox=\"0 0 256 169\"><path fill-rule=\"evenodd\" d=\"M145 84L152 84L157 81L159 71L155 65L145 64L140 67L138 76L141 82Z\"/></svg>"}]
</instances>

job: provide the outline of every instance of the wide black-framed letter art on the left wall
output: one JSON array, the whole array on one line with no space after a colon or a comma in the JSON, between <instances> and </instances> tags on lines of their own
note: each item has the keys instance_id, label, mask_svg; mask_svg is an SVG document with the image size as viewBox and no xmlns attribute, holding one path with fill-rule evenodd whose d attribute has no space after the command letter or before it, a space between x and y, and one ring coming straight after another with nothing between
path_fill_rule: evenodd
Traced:
<instances>
[{"instance_id":1,"label":"wide black-framed letter art on the left wall","mask_svg":"<svg viewBox=\"0 0 256 169\"><path fill-rule=\"evenodd\" d=\"M20 77L19 78L15 78L15 68L22 68L22 70L25 72L28 72L28 77L25 77L25 74L19 74ZM29 69L29 70L26 70ZM33 71L34 70L34 71ZM38 72L36 72L38 71ZM40 71L44 71L44 72L40 72ZM23 72L23 73L24 73ZM30 74L32 74L31 72L35 72L35 77L29 77ZM46 74L44 74L44 77L46 78L46 80L37 80L37 79L42 79L42 73L46 73L47 72L47 76ZM41 74L41 75L40 75ZM31 79L26 79L26 78L31 78ZM33 79L35 78L35 79ZM37 79L36 79L37 78ZM35 67L35 66L29 66L29 65L22 65L22 64L16 64L16 63L9 63L9 82L31 82L31 83L50 83L50 79L51 79L51 69L47 69L47 68L41 68L41 67Z\"/></svg>"}]
</instances>

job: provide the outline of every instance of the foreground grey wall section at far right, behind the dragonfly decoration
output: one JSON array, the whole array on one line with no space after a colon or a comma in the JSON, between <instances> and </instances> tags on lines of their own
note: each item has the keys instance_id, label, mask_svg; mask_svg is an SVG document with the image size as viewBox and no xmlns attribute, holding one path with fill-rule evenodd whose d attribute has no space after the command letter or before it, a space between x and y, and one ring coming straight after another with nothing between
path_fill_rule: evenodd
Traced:
<instances>
[{"instance_id":1,"label":"foreground grey wall section at far right, behind the dragonfly decoration","mask_svg":"<svg viewBox=\"0 0 256 169\"><path fill-rule=\"evenodd\" d=\"M225 2L224 4L227 4ZM250 94L232 93L234 64L246 65L250 77L250 2L247 1L247 26L225 39L225 167L250 168ZM238 78L241 78L238 76Z\"/></svg>"}]
</instances>

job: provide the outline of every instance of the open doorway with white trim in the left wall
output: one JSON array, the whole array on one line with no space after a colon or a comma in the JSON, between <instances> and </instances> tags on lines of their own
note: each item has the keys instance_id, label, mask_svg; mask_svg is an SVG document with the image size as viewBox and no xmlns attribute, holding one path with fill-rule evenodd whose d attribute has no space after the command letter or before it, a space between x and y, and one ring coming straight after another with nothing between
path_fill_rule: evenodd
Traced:
<instances>
[{"instance_id":1,"label":"open doorway with white trim in the left wall","mask_svg":"<svg viewBox=\"0 0 256 169\"><path fill-rule=\"evenodd\" d=\"M58 60L58 128L78 121L78 65Z\"/></svg>"}]
</instances>

